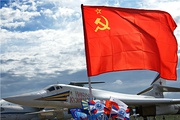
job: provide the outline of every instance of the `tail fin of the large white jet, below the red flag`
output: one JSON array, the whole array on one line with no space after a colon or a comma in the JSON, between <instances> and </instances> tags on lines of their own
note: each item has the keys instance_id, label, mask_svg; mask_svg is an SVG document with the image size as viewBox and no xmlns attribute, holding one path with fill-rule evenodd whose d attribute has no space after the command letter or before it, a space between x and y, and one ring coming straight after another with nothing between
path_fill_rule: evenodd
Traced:
<instances>
[{"instance_id":1,"label":"tail fin of the large white jet, below the red flag","mask_svg":"<svg viewBox=\"0 0 180 120\"><path fill-rule=\"evenodd\" d=\"M154 81L151 83L151 86L139 92L137 95L142 94L142 95L154 96L156 98L164 98L163 92L180 92L180 88L169 87L165 85L166 85L166 80L160 78L160 75L158 74L157 77L154 79Z\"/></svg>"}]
</instances>

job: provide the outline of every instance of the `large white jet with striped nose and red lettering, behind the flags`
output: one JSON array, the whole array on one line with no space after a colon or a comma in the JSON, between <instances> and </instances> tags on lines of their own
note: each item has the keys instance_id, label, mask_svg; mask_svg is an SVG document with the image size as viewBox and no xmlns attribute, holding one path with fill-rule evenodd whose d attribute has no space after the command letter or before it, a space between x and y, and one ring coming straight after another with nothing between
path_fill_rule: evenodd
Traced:
<instances>
[{"instance_id":1,"label":"large white jet with striped nose and red lettering, behind the flags","mask_svg":"<svg viewBox=\"0 0 180 120\"><path fill-rule=\"evenodd\" d=\"M96 82L94 82L96 83ZM62 111L64 108L81 108L81 100L90 97L89 88L82 87L87 82L50 85L43 90L4 98L5 100L30 107L50 108ZM164 86L164 80L157 78L152 86L137 95L122 94L105 90L93 89L94 99L107 100L110 97L119 99L136 112L147 116L180 114L180 99L164 98L163 92L180 92L180 88ZM64 114L61 114L63 118ZM57 116L57 118L60 118ZM64 117L65 118L65 117Z\"/></svg>"}]
</instances>

